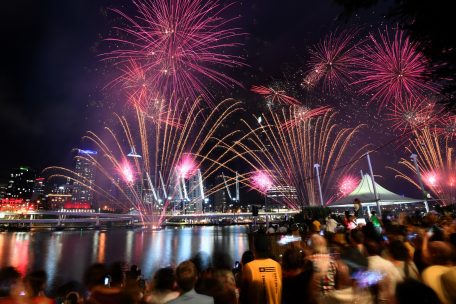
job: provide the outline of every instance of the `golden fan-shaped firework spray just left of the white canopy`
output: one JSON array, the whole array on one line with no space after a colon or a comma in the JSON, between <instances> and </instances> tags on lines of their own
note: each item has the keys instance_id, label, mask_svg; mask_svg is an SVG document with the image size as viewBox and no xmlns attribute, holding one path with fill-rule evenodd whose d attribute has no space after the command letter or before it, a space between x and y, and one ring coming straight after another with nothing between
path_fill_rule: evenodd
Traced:
<instances>
[{"instance_id":1,"label":"golden fan-shaped firework spray just left of the white canopy","mask_svg":"<svg viewBox=\"0 0 456 304\"><path fill-rule=\"evenodd\" d=\"M340 128L334 123L335 113L310 118L293 128L283 124L293 118L293 111L272 110L263 115L260 126L245 122L248 133L237 141L232 150L253 168L267 171L277 191L285 189L284 203L291 208L317 204L314 164L321 165L320 175L325 197L331 196L330 185L350 170L366 146L347 153L348 146L362 126ZM343 161L353 161L338 170ZM290 193L290 187L296 194ZM326 196L327 195L327 196Z\"/></svg>"}]
</instances>

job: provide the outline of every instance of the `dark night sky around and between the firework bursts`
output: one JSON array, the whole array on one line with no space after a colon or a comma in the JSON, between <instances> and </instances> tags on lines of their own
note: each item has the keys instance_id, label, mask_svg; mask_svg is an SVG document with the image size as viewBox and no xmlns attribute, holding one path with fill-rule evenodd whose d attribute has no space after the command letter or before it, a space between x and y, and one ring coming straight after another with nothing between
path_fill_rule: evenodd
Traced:
<instances>
[{"instance_id":1,"label":"dark night sky around and between the firework bursts","mask_svg":"<svg viewBox=\"0 0 456 304\"><path fill-rule=\"evenodd\" d=\"M222 2L231 2L224 0ZM100 60L108 49L105 38L119 17L109 11L119 8L134 14L130 1L1 1L0 31L0 182L10 168L28 165L41 170L49 165L72 166L71 150L82 147L86 130L99 130L123 106L104 87L116 75ZM305 64L307 48L337 28L363 28L360 35L385 26L388 4L361 11L350 21L341 20L342 8L330 0L238 2L230 14L246 37L238 51L248 67L226 71L243 88L218 92L245 101L252 111L262 110L261 98L250 93L252 84L286 81L290 70ZM340 92L316 98L340 111L344 126L367 123L359 143L382 146L394 138L362 96ZM401 150L389 145L373 155L380 183L398 193L411 193L394 181L385 165L394 165ZM367 171L367 164L359 169ZM416 193L416 192L413 192Z\"/></svg>"}]
</instances>

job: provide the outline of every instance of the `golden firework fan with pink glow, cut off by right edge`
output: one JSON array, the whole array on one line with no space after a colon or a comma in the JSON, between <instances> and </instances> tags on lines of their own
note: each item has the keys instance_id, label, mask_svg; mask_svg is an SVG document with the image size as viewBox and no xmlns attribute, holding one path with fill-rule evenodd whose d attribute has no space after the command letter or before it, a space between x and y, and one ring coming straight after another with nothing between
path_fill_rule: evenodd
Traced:
<instances>
[{"instance_id":1,"label":"golden firework fan with pink glow, cut off by right edge","mask_svg":"<svg viewBox=\"0 0 456 304\"><path fill-rule=\"evenodd\" d=\"M416 130L415 138L410 139L409 153L416 153L423 182L443 204L454 203L456 199L456 160L450 141L442 138L430 128ZM396 177L405 179L418 189L415 165L402 158L400 169L392 168Z\"/></svg>"}]
</instances>

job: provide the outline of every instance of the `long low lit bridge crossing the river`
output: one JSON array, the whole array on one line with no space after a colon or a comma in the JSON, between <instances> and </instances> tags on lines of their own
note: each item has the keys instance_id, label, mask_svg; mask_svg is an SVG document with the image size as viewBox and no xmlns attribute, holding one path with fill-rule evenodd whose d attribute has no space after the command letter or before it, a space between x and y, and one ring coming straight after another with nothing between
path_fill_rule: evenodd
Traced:
<instances>
[{"instance_id":1,"label":"long low lit bridge crossing the river","mask_svg":"<svg viewBox=\"0 0 456 304\"><path fill-rule=\"evenodd\" d=\"M259 218L279 218L283 216L292 216L298 213L297 210L278 210L277 212L259 212ZM160 218L160 214L141 216L140 214L118 214L118 213L103 213L103 212L87 212L87 211L27 211L23 213L17 212L2 212L0 213L0 225L22 225L22 226L66 226L74 224L79 226L100 226L112 225L114 223L124 225L142 225L144 218L149 220ZM229 219L234 222L253 220L250 212L237 213L190 213L190 214L171 214L166 213L161 217L163 223L189 223L195 224L201 221L216 222L222 219Z\"/></svg>"}]
</instances>

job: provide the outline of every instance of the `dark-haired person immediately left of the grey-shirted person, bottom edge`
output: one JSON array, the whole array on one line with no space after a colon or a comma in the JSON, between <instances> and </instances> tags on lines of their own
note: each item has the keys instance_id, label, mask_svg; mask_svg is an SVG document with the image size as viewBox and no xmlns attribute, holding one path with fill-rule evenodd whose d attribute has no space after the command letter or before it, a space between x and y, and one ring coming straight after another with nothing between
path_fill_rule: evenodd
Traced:
<instances>
[{"instance_id":1,"label":"dark-haired person immediately left of the grey-shirted person, bottom edge","mask_svg":"<svg viewBox=\"0 0 456 304\"><path fill-rule=\"evenodd\" d=\"M176 299L179 292L174 291L174 270L171 267L159 269L152 281L152 291L147 297L147 303L163 304Z\"/></svg>"}]
</instances>

